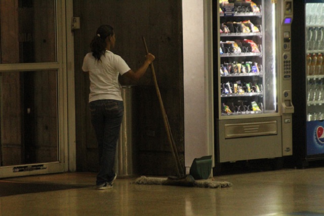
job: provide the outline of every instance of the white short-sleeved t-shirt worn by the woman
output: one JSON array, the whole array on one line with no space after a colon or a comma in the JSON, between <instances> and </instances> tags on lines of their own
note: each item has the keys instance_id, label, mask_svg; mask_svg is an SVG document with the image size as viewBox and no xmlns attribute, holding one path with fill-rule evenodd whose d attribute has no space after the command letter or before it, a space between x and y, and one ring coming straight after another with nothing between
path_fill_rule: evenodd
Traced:
<instances>
[{"instance_id":1,"label":"white short-sleeved t-shirt worn by the woman","mask_svg":"<svg viewBox=\"0 0 324 216\"><path fill-rule=\"evenodd\" d=\"M103 99L123 100L118 74L123 75L130 69L123 58L111 51L106 50L101 61L97 61L92 53L87 53L82 70L89 71L89 102Z\"/></svg>"}]
</instances>

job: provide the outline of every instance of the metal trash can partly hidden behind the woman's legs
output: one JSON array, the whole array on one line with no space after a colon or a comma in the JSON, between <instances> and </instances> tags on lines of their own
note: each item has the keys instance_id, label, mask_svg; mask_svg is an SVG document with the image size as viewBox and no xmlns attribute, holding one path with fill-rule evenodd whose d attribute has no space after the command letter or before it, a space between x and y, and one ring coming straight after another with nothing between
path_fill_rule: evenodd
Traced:
<instances>
[{"instance_id":1,"label":"metal trash can partly hidden behind the woman's legs","mask_svg":"<svg viewBox=\"0 0 324 216\"><path fill-rule=\"evenodd\" d=\"M118 176L132 176L137 174L135 86L123 86L121 96L124 100L124 118L121 122L114 168Z\"/></svg>"}]
</instances>

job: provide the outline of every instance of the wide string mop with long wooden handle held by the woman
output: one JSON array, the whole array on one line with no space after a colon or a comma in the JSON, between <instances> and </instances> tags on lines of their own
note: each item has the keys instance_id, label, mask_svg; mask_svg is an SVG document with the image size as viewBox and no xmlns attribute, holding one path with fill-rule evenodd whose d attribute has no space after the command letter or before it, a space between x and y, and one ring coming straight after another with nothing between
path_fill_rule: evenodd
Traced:
<instances>
[{"instance_id":1,"label":"wide string mop with long wooden handle held by the woman","mask_svg":"<svg viewBox=\"0 0 324 216\"><path fill-rule=\"evenodd\" d=\"M148 52L148 49L146 46L145 38L142 37L142 39L143 39L143 44L145 46L146 54L148 54L149 52ZM151 66L151 70L152 70L152 76L153 76L156 94L157 94L158 101L160 104L161 113L163 115L164 125L165 125L167 135L168 135L168 142L170 144L170 147L172 150L172 155L173 155L173 157L175 159L175 163L176 163L177 176L168 176L167 178L141 176L135 180L134 184L172 185L172 186L202 187L202 188L223 188L223 187L232 186L232 184L229 182L218 182L218 181L215 181L214 179L195 180L192 175L184 174L183 168L180 163L178 151L177 151L177 148L175 145L175 141L172 136L168 116L167 116L166 110L164 108L163 100L162 100L162 97L161 97L161 94L160 94L160 91L159 91L159 88L157 85L153 62L150 64L150 66Z\"/></svg>"}]
</instances>

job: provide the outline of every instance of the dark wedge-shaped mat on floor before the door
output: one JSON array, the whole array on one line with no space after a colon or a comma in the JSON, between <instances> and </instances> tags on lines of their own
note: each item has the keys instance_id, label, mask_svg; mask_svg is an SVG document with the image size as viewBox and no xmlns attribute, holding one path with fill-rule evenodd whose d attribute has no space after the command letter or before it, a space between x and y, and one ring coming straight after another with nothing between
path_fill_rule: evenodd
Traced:
<instances>
[{"instance_id":1,"label":"dark wedge-shaped mat on floor before the door","mask_svg":"<svg viewBox=\"0 0 324 216\"><path fill-rule=\"evenodd\" d=\"M0 181L0 197L75 188L83 186Z\"/></svg>"}]
</instances>

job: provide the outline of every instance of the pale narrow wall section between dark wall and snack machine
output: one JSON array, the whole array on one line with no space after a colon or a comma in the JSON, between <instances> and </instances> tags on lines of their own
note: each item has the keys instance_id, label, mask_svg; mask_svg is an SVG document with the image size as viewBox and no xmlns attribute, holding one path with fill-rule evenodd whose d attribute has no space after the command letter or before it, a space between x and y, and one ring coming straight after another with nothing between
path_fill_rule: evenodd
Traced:
<instances>
[{"instance_id":1,"label":"pale narrow wall section between dark wall and snack machine","mask_svg":"<svg viewBox=\"0 0 324 216\"><path fill-rule=\"evenodd\" d=\"M209 4L207 0L182 1L187 173L194 158L214 156Z\"/></svg>"}]
</instances>

